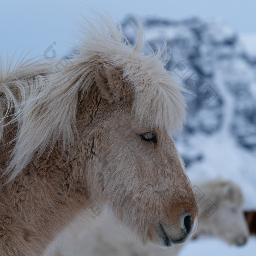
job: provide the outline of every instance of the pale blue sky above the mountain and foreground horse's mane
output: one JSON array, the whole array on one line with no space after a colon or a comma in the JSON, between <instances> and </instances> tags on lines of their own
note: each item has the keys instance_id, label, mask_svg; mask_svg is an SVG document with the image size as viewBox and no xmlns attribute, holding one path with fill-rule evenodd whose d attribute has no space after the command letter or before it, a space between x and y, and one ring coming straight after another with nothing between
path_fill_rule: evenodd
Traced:
<instances>
[{"instance_id":1,"label":"pale blue sky above the mountain and foreground horse's mane","mask_svg":"<svg viewBox=\"0 0 256 256\"><path fill-rule=\"evenodd\" d=\"M161 16L181 19L191 16L220 18L235 31L256 34L255 0L128 0L128 1L67 1L67 0L9 0L0 2L0 53L14 53L34 47L30 57L42 55L56 42L57 54L68 50L72 42L69 32L75 29L78 12L89 15L89 8L105 10L118 19L127 14ZM67 33L68 32L68 33Z\"/></svg>"}]
</instances>

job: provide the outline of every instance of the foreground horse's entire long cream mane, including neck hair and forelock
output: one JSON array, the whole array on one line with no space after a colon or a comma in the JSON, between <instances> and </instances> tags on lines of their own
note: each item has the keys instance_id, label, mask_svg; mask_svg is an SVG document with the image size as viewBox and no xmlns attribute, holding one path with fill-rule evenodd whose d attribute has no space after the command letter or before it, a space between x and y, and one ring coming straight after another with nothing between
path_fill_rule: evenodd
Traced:
<instances>
[{"instance_id":1,"label":"foreground horse's entire long cream mane, including neck hair and forelock","mask_svg":"<svg viewBox=\"0 0 256 256\"><path fill-rule=\"evenodd\" d=\"M80 44L68 68L58 61L20 61L16 65L0 61L0 145L5 146L6 127L15 125L14 147L7 168L11 180L37 152L53 147L60 138L63 147L72 147L76 133L79 92L84 95L94 84L95 67L103 61L121 69L123 79L132 84L133 110L139 122L149 127L165 127L171 132L182 128L185 120L185 91L164 68L159 58L165 49L145 56L142 25L138 22L138 41L132 46L121 25L99 15L80 24ZM10 142L9 142L10 143Z\"/></svg>"}]
</instances>

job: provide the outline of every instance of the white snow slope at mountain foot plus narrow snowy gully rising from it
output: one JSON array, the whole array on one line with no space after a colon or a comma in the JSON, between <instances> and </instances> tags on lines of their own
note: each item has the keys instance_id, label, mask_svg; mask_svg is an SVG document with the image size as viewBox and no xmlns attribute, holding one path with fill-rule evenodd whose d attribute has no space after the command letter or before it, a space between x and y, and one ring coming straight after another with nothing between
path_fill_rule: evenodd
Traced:
<instances>
[{"instance_id":1,"label":"white snow slope at mountain foot plus narrow snowy gully rising from it","mask_svg":"<svg viewBox=\"0 0 256 256\"><path fill-rule=\"evenodd\" d=\"M216 80L218 84L221 84L220 71L216 72ZM256 154L241 148L234 140L230 133L230 123L233 120L233 109L237 102L225 86L219 86L219 90L221 95L225 95L223 123L219 131L212 136L204 133L189 136L188 141L183 145L178 140L177 147L182 155L187 155L187 151L190 150L194 152L194 155L204 155L201 161L187 168L191 181L217 177L231 179L242 190L245 199L244 208L256 209ZM213 120L207 114L207 109L203 110L200 112L203 118Z\"/></svg>"}]
</instances>

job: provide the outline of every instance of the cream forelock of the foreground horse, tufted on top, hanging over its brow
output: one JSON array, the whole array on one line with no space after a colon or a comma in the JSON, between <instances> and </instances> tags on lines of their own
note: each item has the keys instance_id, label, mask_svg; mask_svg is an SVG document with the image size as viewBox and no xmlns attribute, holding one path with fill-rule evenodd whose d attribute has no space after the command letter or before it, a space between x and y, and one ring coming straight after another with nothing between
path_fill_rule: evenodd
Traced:
<instances>
[{"instance_id":1,"label":"cream forelock of the foreground horse, tufted on top, hanging over its brow","mask_svg":"<svg viewBox=\"0 0 256 256\"><path fill-rule=\"evenodd\" d=\"M180 131L185 122L186 102L182 93L186 90L166 71L165 63L160 60L165 59L166 46L146 56L141 52L144 32L139 20L138 39L135 46L131 46L121 25L116 26L111 19L101 19L101 23L89 23L83 27L87 33L80 40L87 47L77 47L80 60L91 55L92 60L98 61L97 57L100 57L101 61L121 69L123 79L132 84L135 92L132 107L140 125L163 127L171 134Z\"/></svg>"}]
</instances>

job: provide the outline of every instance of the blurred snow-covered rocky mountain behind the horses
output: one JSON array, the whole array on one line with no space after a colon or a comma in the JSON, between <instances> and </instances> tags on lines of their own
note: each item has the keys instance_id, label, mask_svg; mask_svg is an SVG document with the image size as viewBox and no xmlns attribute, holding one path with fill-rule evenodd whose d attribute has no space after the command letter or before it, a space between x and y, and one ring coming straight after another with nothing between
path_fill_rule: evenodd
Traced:
<instances>
[{"instance_id":1,"label":"blurred snow-covered rocky mountain behind the horses","mask_svg":"<svg viewBox=\"0 0 256 256\"><path fill-rule=\"evenodd\" d=\"M166 68L194 94L187 95L187 126L176 138L189 177L231 179L245 208L256 208L256 57L217 19L140 20L153 50L166 39ZM122 26L133 44L131 23Z\"/></svg>"}]
</instances>

